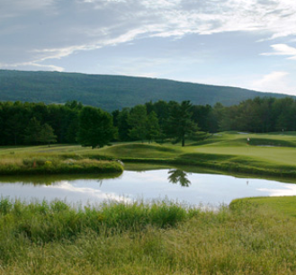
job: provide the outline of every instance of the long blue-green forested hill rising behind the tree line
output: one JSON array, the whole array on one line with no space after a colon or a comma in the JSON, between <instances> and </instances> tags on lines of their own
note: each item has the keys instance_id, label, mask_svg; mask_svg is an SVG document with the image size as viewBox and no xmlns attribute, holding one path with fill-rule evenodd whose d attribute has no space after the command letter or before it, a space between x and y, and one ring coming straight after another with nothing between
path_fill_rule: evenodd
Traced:
<instances>
[{"instance_id":1,"label":"long blue-green forested hill rising behind the tree line","mask_svg":"<svg viewBox=\"0 0 296 275\"><path fill-rule=\"evenodd\" d=\"M76 100L113 111L158 100L190 100L198 105L221 102L229 106L256 96L286 95L145 77L0 70L1 102L64 103Z\"/></svg>"}]
</instances>

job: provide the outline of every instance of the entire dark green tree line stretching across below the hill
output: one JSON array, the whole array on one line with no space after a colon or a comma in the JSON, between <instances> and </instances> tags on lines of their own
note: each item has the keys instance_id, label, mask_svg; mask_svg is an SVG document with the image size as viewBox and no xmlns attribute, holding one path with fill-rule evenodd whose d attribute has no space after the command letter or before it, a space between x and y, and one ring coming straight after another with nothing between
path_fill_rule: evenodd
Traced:
<instances>
[{"instance_id":1,"label":"entire dark green tree line stretching across below the hill","mask_svg":"<svg viewBox=\"0 0 296 275\"><path fill-rule=\"evenodd\" d=\"M292 98L250 99L225 107L191 102L147 102L112 111L66 104L0 102L0 146L82 144L111 141L180 142L200 140L206 133L238 130L256 133L296 130Z\"/></svg>"}]
</instances>

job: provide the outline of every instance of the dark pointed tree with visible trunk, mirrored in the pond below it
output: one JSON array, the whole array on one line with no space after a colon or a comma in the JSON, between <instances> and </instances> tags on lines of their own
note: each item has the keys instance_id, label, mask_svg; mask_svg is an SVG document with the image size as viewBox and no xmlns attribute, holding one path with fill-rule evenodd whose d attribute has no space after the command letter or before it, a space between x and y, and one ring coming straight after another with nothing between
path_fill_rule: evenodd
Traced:
<instances>
[{"instance_id":1,"label":"dark pointed tree with visible trunk, mirrored in the pond below it","mask_svg":"<svg viewBox=\"0 0 296 275\"><path fill-rule=\"evenodd\" d=\"M175 143L180 142L185 146L185 137L197 131L197 124L193 122L191 111L192 103L184 101L173 105L168 120L168 132L171 137L175 137Z\"/></svg>"}]
</instances>

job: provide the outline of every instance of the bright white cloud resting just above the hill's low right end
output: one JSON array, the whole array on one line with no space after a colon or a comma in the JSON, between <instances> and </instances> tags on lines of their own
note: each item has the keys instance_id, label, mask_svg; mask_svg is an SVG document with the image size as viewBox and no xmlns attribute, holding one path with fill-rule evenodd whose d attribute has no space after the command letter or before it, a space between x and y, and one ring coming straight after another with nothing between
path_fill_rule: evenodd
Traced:
<instances>
[{"instance_id":1,"label":"bright white cloud resting just above the hill's low right end","mask_svg":"<svg viewBox=\"0 0 296 275\"><path fill-rule=\"evenodd\" d=\"M263 75L263 77L253 82L251 88L263 92L295 95L295 87L289 85L287 80L288 75L289 73L281 71Z\"/></svg>"}]
</instances>

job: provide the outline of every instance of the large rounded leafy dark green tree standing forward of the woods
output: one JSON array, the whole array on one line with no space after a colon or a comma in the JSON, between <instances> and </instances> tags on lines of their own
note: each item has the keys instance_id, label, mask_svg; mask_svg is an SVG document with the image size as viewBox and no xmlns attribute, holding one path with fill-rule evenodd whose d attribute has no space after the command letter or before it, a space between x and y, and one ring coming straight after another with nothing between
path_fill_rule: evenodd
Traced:
<instances>
[{"instance_id":1,"label":"large rounded leafy dark green tree standing forward of the woods","mask_svg":"<svg viewBox=\"0 0 296 275\"><path fill-rule=\"evenodd\" d=\"M84 107L79 114L77 140L82 146L100 146L108 144L116 134L112 116L94 107Z\"/></svg>"}]
</instances>

